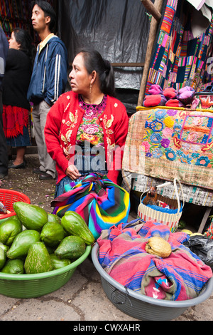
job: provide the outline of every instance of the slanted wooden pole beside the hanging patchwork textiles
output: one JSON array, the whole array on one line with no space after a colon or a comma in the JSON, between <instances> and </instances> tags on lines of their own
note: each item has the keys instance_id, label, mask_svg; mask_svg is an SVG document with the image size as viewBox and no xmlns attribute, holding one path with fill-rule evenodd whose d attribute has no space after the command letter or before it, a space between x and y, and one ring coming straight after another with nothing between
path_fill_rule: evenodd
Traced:
<instances>
[{"instance_id":1,"label":"slanted wooden pole beside the hanging patchwork textiles","mask_svg":"<svg viewBox=\"0 0 213 335\"><path fill-rule=\"evenodd\" d=\"M141 0L141 2L143 3L144 1ZM163 0L155 0L154 6L155 6L155 9L160 13L162 6L163 6ZM160 14L160 17L161 17L161 14ZM145 58L145 63L144 63L144 68L143 68L143 76L141 80L141 88L140 88L139 96L138 96L138 105L142 105L143 103L143 97L146 91L146 81L148 77L149 65L151 61L151 55L153 52L153 44L155 41L156 32L158 30L159 21L160 19L158 19L157 21L154 18L154 16L151 19L151 26L150 26L148 43L147 43L147 48L146 48L146 58Z\"/></svg>"}]
</instances>

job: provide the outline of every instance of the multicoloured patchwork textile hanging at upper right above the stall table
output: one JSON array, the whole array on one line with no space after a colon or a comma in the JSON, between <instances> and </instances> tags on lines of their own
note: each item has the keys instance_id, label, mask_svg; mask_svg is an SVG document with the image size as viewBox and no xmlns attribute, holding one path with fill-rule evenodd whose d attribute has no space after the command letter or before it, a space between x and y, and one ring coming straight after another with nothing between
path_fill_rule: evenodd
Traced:
<instances>
[{"instance_id":1,"label":"multicoloured patchwork textile hanging at upper right above the stall table","mask_svg":"<svg viewBox=\"0 0 213 335\"><path fill-rule=\"evenodd\" d=\"M153 83L162 88L191 86L202 91L212 82L208 70L212 54L213 21L194 38L191 30L192 5L187 1L168 0L155 53L151 61L146 94Z\"/></svg>"}]
</instances>

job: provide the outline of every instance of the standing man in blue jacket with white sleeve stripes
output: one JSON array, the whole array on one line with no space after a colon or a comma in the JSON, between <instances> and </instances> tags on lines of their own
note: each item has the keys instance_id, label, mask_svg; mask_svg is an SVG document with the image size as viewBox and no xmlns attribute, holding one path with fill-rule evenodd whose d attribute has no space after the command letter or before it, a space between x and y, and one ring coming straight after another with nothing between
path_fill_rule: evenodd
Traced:
<instances>
[{"instance_id":1,"label":"standing man in blue jacket with white sleeve stripes","mask_svg":"<svg viewBox=\"0 0 213 335\"><path fill-rule=\"evenodd\" d=\"M33 103L35 142L38 148L41 180L55 178L55 161L50 158L45 145L44 128L50 107L65 91L67 83L67 50L64 43L52 32L56 15L53 7L43 0L32 1L32 24L41 42L28 88L28 100Z\"/></svg>"}]
</instances>

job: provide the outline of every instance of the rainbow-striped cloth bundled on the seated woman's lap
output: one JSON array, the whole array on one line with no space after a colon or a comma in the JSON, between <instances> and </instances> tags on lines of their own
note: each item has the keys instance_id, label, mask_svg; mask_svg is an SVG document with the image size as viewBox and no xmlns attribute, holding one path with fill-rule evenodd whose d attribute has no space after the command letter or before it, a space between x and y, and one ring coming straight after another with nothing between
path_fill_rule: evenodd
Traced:
<instances>
[{"instance_id":1,"label":"rainbow-striped cloth bundled on the seated woman's lap","mask_svg":"<svg viewBox=\"0 0 213 335\"><path fill-rule=\"evenodd\" d=\"M129 193L106 176L90 173L80 182L70 183L70 190L55 198L53 213L62 217L67 210L77 212L87 223L94 238L102 230L127 222L130 210Z\"/></svg>"}]
</instances>

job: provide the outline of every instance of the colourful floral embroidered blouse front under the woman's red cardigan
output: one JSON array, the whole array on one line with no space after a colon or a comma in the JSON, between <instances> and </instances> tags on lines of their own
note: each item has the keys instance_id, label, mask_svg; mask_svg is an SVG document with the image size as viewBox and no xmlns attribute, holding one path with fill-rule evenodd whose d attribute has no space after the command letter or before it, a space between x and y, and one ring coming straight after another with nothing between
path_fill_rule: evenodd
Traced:
<instances>
[{"instance_id":1,"label":"colourful floral embroidered blouse front under the woman's red cardigan","mask_svg":"<svg viewBox=\"0 0 213 335\"><path fill-rule=\"evenodd\" d=\"M77 131L76 144L82 145L85 140L91 145L104 145L104 132L102 125L99 123L99 116L103 113L107 105L107 96L104 95L102 103L99 105L89 105L84 103L82 97L79 96L80 108L84 110L82 122Z\"/></svg>"}]
</instances>

